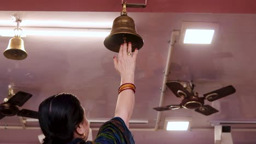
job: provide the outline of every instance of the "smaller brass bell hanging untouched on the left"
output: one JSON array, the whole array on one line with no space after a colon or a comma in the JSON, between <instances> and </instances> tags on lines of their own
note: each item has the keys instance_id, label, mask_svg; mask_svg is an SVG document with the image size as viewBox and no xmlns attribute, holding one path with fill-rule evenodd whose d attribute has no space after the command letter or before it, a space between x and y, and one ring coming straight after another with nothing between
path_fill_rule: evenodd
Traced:
<instances>
[{"instance_id":1,"label":"smaller brass bell hanging untouched on the left","mask_svg":"<svg viewBox=\"0 0 256 144\"><path fill-rule=\"evenodd\" d=\"M6 58L14 60L22 60L27 57L24 49L24 41L20 37L11 38L7 49L3 52Z\"/></svg>"}]
</instances>

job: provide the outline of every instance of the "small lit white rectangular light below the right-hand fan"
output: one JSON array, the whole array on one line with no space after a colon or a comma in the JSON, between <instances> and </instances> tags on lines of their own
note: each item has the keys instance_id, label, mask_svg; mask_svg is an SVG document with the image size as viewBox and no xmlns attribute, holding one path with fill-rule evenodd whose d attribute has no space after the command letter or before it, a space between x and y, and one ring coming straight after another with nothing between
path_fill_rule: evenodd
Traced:
<instances>
[{"instance_id":1,"label":"small lit white rectangular light below the right-hand fan","mask_svg":"<svg viewBox=\"0 0 256 144\"><path fill-rule=\"evenodd\" d=\"M188 130L189 122L168 122L166 130Z\"/></svg>"}]
</instances>

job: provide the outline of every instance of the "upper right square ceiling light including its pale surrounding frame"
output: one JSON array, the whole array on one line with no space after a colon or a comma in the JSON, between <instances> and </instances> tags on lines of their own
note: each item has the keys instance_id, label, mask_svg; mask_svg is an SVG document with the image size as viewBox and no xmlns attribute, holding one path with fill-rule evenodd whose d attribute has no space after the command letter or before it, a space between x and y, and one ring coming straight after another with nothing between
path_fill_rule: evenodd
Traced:
<instances>
[{"instance_id":1,"label":"upper right square ceiling light including its pale surrounding frame","mask_svg":"<svg viewBox=\"0 0 256 144\"><path fill-rule=\"evenodd\" d=\"M182 22L181 43L211 44L218 28L217 22Z\"/></svg>"}]
</instances>

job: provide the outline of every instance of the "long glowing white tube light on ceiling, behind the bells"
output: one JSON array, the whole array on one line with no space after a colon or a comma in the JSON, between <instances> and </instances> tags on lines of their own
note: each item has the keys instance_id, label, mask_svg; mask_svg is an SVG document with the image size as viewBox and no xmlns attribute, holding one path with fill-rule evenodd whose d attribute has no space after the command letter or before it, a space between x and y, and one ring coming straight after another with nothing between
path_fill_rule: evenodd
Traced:
<instances>
[{"instance_id":1,"label":"long glowing white tube light on ceiling, behind the bells","mask_svg":"<svg viewBox=\"0 0 256 144\"><path fill-rule=\"evenodd\" d=\"M14 28L13 28L14 29ZM1 37L13 37L14 31L10 27L0 27ZM36 28L25 27L21 37L40 35L49 37L107 37L111 29L83 29L83 28Z\"/></svg>"}]
</instances>

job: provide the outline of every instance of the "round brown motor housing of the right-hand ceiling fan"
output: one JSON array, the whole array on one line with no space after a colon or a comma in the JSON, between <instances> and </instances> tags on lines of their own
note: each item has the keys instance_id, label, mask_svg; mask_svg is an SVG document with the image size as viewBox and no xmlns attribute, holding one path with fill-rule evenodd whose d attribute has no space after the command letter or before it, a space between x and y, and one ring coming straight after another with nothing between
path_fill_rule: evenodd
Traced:
<instances>
[{"instance_id":1,"label":"round brown motor housing of the right-hand ceiling fan","mask_svg":"<svg viewBox=\"0 0 256 144\"><path fill-rule=\"evenodd\" d=\"M203 98L199 98L199 97L189 97L182 100L182 106L185 109L198 109L204 104L205 104L205 101L203 100Z\"/></svg>"}]
</instances>

